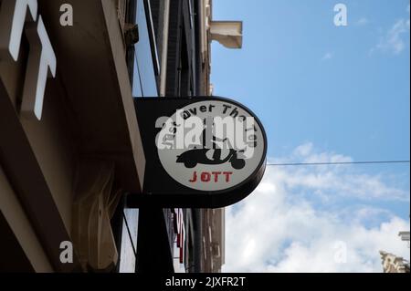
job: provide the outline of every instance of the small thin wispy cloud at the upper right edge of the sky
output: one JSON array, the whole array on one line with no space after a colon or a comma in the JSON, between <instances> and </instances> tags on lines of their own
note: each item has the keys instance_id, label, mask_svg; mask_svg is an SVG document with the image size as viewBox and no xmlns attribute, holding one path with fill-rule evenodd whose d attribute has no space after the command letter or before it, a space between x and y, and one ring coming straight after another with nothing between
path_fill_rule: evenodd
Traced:
<instances>
[{"instance_id":1,"label":"small thin wispy cloud at the upper right edge of the sky","mask_svg":"<svg viewBox=\"0 0 411 291\"><path fill-rule=\"evenodd\" d=\"M371 52L378 49L383 52L392 52L395 55L400 54L406 48L406 41L409 42L409 5L406 8L408 18L401 18L395 21L395 24L381 37L380 42Z\"/></svg>"}]
</instances>

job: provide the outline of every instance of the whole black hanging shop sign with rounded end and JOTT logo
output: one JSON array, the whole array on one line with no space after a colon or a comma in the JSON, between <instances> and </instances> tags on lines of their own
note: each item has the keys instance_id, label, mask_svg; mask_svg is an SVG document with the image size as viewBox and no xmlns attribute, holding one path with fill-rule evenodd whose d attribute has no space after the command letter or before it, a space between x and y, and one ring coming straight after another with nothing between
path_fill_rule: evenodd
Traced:
<instances>
[{"instance_id":1,"label":"whole black hanging shop sign with rounded end and JOTT logo","mask_svg":"<svg viewBox=\"0 0 411 291\"><path fill-rule=\"evenodd\" d=\"M146 157L142 194L131 204L216 208L261 181L267 139L251 110L218 97L135 99Z\"/></svg>"}]
</instances>

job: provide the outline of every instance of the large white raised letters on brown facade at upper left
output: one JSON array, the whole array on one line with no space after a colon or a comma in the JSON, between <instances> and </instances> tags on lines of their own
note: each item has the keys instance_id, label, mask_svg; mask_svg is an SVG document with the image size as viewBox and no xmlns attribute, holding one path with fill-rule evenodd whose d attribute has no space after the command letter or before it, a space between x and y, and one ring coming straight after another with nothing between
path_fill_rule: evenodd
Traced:
<instances>
[{"instance_id":1,"label":"large white raised letters on brown facade at upper left","mask_svg":"<svg viewBox=\"0 0 411 291\"><path fill-rule=\"evenodd\" d=\"M57 60L37 0L5 0L0 7L0 60L17 61L23 31L30 45L21 114L41 120L47 77L56 76Z\"/></svg>"}]
</instances>

